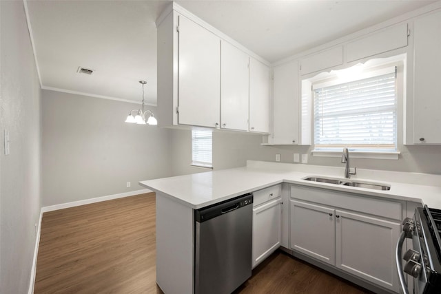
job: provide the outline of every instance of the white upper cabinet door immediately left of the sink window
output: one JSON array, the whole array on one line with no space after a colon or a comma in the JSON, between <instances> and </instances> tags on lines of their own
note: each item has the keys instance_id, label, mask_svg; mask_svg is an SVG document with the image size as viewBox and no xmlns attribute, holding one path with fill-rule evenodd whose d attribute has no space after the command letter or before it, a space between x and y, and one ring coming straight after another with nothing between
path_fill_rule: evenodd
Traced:
<instances>
[{"instance_id":1,"label":"white upper cabinet door immediately left of the sink window","mask_svg":"<svg viewBox=\"0 0 441 294\"><path fill-rule=\"evenodd\" d=\"M298 61L274 67L273 142L298 144Z\"/></svg>"}]
</instances>

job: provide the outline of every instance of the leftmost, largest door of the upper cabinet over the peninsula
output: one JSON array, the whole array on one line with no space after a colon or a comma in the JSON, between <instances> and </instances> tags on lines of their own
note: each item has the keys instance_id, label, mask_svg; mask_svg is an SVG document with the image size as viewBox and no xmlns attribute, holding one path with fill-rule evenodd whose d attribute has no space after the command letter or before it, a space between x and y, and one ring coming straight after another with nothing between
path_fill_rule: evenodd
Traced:
<instances>
[{"instance_id":1,"label":"leftmost, largest door of the upper cabinet over the peninsula","mask_svg":"<svg viewBox=\"0 0 441 294\"><path fill-rule=\"evenodd\" d=\"M178 123L218 127L220 39L183 16L178 30Z\"/></svg>"}]
</instances>

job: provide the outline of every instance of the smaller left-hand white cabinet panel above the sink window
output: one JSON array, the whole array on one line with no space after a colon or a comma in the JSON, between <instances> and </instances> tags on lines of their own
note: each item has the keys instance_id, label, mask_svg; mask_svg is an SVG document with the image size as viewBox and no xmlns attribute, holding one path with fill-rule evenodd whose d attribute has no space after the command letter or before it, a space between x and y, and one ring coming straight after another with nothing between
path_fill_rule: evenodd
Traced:
<instances>
[{"instance_id":1,"label":"smaller left-hand white cabinet panel above the sink window","mask_svg":"<svg viewBox=\"0 0 441 294\"><path fill-rule=\"evenodd\" d=\"M343 47L336 46L300 59L300 74L311 74L343 64Z\"/></svg>"}]
</instances>

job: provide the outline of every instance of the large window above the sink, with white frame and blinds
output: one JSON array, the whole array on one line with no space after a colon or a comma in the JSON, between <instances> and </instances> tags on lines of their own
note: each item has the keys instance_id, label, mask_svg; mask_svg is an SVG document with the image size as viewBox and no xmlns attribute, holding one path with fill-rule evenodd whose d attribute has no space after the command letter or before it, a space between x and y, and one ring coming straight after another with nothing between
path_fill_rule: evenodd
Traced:
<instances>
[{"instance_id":1,"label":"large window above the sink, with white frame and blinds","mask_svg":"<svg viewBox=\"0 0 441 294\"><path fill-rule=\"evenodd\" d=\"M398 159L405 64L401 54L305 76L302 125L312 127L312 154L333 157L348 147L354 158Z\"/></svg>"}]
</instances>

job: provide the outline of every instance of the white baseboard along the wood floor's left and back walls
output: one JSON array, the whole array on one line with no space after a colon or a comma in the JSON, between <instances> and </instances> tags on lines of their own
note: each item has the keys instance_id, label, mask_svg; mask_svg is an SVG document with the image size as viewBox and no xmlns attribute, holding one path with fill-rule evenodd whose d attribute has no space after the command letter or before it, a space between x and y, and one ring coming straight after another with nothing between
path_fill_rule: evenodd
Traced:
<instances>
[{"instance_id":1,"label":"white baseboard along the wood floor's left and back walls","mask_svg":"<svg viewBox=\"0 0 441 294\"><path fill-rule=\"evenodd\" d=\"M114 195L109 195L109 196L102 196L102 197L90 198L90 199L73 201L73 202L68 202L68 203L55 204L55 205L51 205L51 206L47 206L47 207L41 207L40 219L39 219L39 224L37 227L37 237L35 238L34 259L32 260L32 269L31 269L31 273L30 273L28 294L34 293L35 274L37 273L37 256L39 253L39 245L40 245L41 220L43 218L43 213L48 212L48 211L65 209L65 208L69 208L69 207L76 207L76 206L80 206L80 205L84 205L84 204L90 204L90 203L107 201L107 200L112 200L112 199L117 199L117 198L135 196L135 195L149 193L149 192L152 192L152 190L142 189L142 190L119 193L119 194L114 194Z\"/></svg>"}]
</instances>

